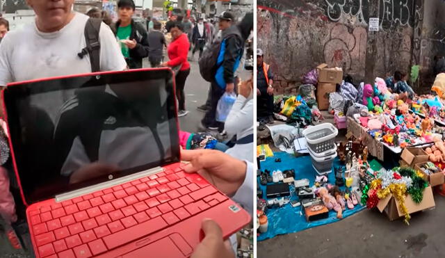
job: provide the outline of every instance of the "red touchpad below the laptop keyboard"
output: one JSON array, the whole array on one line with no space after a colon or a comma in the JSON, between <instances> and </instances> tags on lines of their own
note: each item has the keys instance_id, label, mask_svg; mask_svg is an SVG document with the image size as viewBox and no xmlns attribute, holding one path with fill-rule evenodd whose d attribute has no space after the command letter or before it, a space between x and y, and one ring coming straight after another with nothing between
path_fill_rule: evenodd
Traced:
<instances>
[{"instance_id":1,"label":"red touchpad below the laptop keyboard","mask_svg":"<svg viewBox=\"0 0 445 258\"><path fill-rule=\"evenodd\" d=\"M150 254L163 254L162 257L189 257L193 248L184 240L181 234L173 233L156 242L145 245L122 257L147 257Z\"/></svg>"}]
</instances>

